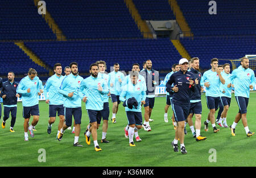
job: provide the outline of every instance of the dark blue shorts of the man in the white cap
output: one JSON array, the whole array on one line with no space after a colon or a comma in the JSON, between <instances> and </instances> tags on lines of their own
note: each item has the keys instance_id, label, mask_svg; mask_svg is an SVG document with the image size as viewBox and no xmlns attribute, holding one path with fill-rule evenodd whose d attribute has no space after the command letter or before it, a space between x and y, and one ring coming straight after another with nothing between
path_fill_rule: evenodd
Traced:
<instances>
[{"instance_id":1,"label":"dark blue shorts of the man in the white cap","mask_svg":"<svg viewBox=\"0 0 256 178\"><path fill-rule=\"evenodd\" d=\"M185 121L188 118L190 104L172 104L174 110L174 118L176 122Z\"/></svg>"}]
</instances>

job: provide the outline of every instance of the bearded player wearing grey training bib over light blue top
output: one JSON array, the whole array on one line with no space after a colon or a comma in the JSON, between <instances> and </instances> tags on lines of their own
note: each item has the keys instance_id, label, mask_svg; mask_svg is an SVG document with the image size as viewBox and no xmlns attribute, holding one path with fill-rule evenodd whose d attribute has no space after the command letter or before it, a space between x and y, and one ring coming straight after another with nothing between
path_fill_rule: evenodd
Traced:
<instances>
[{"instance_id":1,"label":"bearded player wearing grey training bib over light blue top","mask_svg":"<svg viewBox=\"0 0 256 178\"><path fill-rule=\"evenodd\" d=\"M159 72L152 69L152 61L148 59L146 61L146 69L139 74L144 77L147 86L146 104L144 104L144 123L142 127L146 131L151 131L149 121L155 104L155 87L160 84Z\"/></svg>"}]
</instances>

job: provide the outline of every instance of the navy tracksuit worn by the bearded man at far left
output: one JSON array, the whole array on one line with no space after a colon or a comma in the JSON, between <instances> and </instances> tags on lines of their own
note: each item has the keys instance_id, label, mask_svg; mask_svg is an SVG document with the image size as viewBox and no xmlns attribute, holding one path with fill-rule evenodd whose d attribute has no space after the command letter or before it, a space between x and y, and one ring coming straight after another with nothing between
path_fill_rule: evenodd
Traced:
<instances>
[{"instance_id":1,"label":"navy tracksuit worn by the bearded man at far left","mask_svg":"<svg viewBox=\"0 0 256 178\"><path fill-rule=\"evenodd\" d=\"M0 97L3 95L6 95L5 98L3 98L3 121L6 121L9 118L9 114L11 112L11 127L14 127L15 121L16 121L16 112L17 112L17 97L16 97L16 89L18 87L18 83L5 81L3 82L2 92L0 94ZM21 94L19 94L21 97Z\"/></svg>"}]
</instances>

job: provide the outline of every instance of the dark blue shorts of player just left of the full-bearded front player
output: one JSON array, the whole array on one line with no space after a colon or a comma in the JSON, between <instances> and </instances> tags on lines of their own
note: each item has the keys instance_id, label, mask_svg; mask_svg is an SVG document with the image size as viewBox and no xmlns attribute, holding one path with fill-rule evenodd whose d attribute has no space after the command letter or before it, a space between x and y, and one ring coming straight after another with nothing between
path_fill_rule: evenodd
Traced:
<instances>
[{"instance_id":1,"label":"dark blue shorts of player just left of the full-bearded front player","mask_svg":"<svg viewBox=\"0 0 256 178\"><path fill-rule=\"evenodd\" d=\"M72 116L74 117L76 124L81 124L82 118L82 108L81 107L64 107L64 115L66 126L70 127L72 125Z\"/></svg>"}]
</instances>

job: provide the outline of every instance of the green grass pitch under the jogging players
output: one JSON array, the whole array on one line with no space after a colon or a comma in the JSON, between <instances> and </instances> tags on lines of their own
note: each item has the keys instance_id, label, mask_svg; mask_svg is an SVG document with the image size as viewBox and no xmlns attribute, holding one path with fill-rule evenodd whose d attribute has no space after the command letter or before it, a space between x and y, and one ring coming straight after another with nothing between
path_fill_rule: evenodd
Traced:
<instances>
[{"instance_id":1,"label":"green grass pitch under the jogging players","mask_svg":"<svg viewBox=\"0 0 256 178\"><path fill-rule=\"evenodd\" d=\"M110 110L112 102L109 102ZM196 142L192 137L191 130L187 125L188 134L185 135L185 147L187 155L174 152L171 141L174 139L175 131L170 121L172 115L171 107L168 110L169 122L165 123L163 119L166 97L157 97L155 107L152 111L151 122L152 131L146 132L139 130L142 142L135 142L136 147L129 146L129 139L124 136L124 127L127 125L127 118L124 107L119 105L117 114L117 123L111 122L112 111L110 111L109 129L107 139L110 143L101 143L102 127L98 129L98 143L102 148L101 152L94 151L93 142L88 146L85 143L84 131L88 125L89 119L85 111L85 105L82 104L82 123L79 142L84 147L73 147L74 134L66 130L63 140L55 139L57 133L58 118L52 126L52 133L47 134L48 123L48 105L40 101L40 119L36 125L35 137L24 142L22 104L18 103L17 118L15 123L15 133L9 131L10 118L6 122L5 129L0 127L0 166L85 166L85 167L190 167L190 166L255 166L256 157L256 135L247 138L245 129L240 121L236 127L236 136L230 134L228 128L220 128L219 133L213 133L212 127L209 131L204 131L203 122L207 118L208 109L205 102L205 96L202 95L203 113L201 120L201 135L207 136L207 139ZM256 131L256 93L251 93L249 106L247 108L247 121L249 129ZM2 109L3 110L3 109ZM227 122L231 125L237 114L237 102L232 97L232 103L228 111ZM142 114L144 109L142 109ZM3 115L3 111L2 111ZM217 116L217 113L216 113ZM30 119L31 121L32 119ZM193 118L195 122L195 118ZM1 118L2 123L2 118ZM135 140L135 139L134 139ZM180 143L179 143L180 144ZM39 162L38 158L42 152L39 149L46 150L46 162ZM210 162L212 153L210 149L216 150L216 162Z\"/></svg>"}]
</instances>

